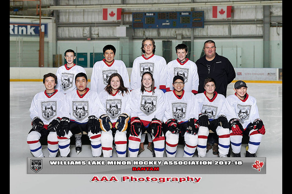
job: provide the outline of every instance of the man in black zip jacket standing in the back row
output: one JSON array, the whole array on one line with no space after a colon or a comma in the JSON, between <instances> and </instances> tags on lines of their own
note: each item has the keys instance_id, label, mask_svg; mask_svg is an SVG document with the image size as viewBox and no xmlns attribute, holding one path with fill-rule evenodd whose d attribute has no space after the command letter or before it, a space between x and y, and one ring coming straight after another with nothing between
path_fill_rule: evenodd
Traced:
<instances>
[{"instance_id":1,"label":"man in black zip jacket standing in the back row","mask_svg":"<svg viewBox=\"0 0 292 194\"><path fill-rule=\"evenodd\" d=\"M207 77L216 81L215 91L226 97L227 85L235 78L235 70L231 62L216 53L216 46L213 40L204 43L205 55L196 61L199 75L198 93L203 93L204 80Z\"/></svg>"}]
</instances>

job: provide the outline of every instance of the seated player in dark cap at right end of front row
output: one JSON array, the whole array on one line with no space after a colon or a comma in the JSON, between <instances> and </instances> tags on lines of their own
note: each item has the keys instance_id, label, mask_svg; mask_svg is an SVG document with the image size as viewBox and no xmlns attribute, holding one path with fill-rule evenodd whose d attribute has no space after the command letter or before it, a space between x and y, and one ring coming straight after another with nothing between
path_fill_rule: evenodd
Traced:
<instances>
[{"instance_id":1,"label":"seated player in dark cap at right end of front row","mask_svg":"<svg viewBox=\"0 0 292 194\"><path fill-rule=\"evenodd\" d=\"M246 83L239 80L234 84L234 95L226 97L226 116L231 125L230 142L234 157L241 157L242 135L249 136L245 157L256 157L262 135L266 129L259 117L256 99L247 94Z\"/></svg>"}]
</instances>

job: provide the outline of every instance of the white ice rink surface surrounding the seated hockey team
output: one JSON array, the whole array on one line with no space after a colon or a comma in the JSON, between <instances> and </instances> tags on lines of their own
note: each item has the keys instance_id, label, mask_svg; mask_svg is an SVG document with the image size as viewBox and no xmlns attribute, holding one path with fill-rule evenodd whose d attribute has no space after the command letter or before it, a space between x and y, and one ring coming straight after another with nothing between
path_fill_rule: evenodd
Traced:
<instances>
[{"instance_id":1,"label":"white ice rink surface surrounding the seated hockey team","mask_svg":"<svg viewBox=\"0 0 292 194\"><path fill-rule=\"evenodd\" d=\"M282 84L246 83L247 93L257 99L259 115L265 125L266 134L256 153L266 157L266 174L195 174L159 176L202 177L199 183L193 182L90 182L93 174L27 174L27 157L32 157L26 137L31 129L30 104L33 96L45 87L42 82L10 82L10 193L282 193ZM227 95L234 94L234 83L228 85ZM90 83L88 85L90 88ZM245 156L242 145L241 155ZM152 157L146 149L138 157ZM44 156L48 157L47 147L43 146ZM165 154L166 156L166 154ZM183 156L183 146L179 146L176 157ZM89 145L83 145L77 155L71 146L71 157L92 157ZM113 149L113 157L116 157ZM194 157L197 157L196 153ZM218 157L207 153L207 157ZM232 157L232 156L231 156ZM116 175L120 177L122 175ZM135 175L139 177L139 175ZM142 174L142 177L147 175ZM157 175L156 175L157 176ZM20 181L16 181L20 180Z\"/></svg>"}]
</instances>

